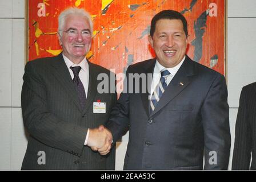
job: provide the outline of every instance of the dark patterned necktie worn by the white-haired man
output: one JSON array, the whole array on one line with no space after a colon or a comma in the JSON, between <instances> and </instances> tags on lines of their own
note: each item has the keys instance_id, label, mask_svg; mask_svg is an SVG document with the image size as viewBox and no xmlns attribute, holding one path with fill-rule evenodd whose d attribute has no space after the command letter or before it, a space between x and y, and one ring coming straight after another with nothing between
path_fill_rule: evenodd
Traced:
<instances>
[{"instance_id":1,"label":"dark patterned necktie worn by the white-haired man","mask_svg":"<svg viewBox=\"0 0 256 182\"><path fill-rule=\"evenodd\" d=\"M80 105L83 109L85 107L85 100L86 100L86 94L85 94L85 88L83 87L82 81L79 78L79 72L81 70L81 67L70 67L70 69L74 73L73 83L75 85L75 88L77 89L78 93L78 99L80 102Z\"/></svg>"}]
</instances>

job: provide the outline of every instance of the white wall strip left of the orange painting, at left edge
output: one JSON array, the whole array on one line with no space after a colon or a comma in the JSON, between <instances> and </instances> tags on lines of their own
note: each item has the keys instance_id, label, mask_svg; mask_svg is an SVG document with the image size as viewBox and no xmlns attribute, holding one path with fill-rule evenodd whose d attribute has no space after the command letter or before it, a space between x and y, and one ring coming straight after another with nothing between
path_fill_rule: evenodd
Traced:
<instances>
[{"instance_id":1,"label":"white wall strip left of the orange painting, at left edge","mask_svg":"<svg viewBox=\"0 0 256 182\"><path fill-rule=\"evenodd\" d=\"M20 169L27 139L21 115L25 0L0 0L0 169Z\"/></svg>"}]
</instances>

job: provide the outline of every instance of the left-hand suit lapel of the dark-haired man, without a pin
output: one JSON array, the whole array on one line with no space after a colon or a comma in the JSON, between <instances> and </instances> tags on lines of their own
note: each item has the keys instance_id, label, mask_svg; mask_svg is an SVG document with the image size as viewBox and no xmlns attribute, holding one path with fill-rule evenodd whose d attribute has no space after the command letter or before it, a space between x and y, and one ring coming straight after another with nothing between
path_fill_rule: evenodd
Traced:
<instances>
[{"instance_id":1,"label":"left-hand suit lapel of the dark-haired man, without a pin","mask_svg":"<svg viewBox=\"0 0 256 182\"><path fill-rule=\"evenodd\" d=\"M152 84L152 78L153 78L153 71L154 71L155 63L156 63L156 59L150 60L149 64L145 68L145 73L146 73L146 76L147 76L147 83L146 83L147 92L141 94L142 104L143 104L143 107L144 107L148 117L150 115L150 107L149 107L150 98L149 97L150 97L150 90L151 90L151 84ZM149 74L151 74L151 76L148 76Z\"/></svg>"}]
</instances>

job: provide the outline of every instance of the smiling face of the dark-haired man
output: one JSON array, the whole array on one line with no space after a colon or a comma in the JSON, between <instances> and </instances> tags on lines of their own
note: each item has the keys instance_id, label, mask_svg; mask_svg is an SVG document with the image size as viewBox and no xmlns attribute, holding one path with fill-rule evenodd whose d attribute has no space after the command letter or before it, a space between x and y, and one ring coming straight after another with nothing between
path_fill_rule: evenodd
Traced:
<instances>
[{"instance_id":1,"label":"smiling face of the dark-haired man","mask_svg":"<svg viewBox=\"0 0 256 182\"><path fill-rule=\"evenodd\" d=\"M165 68L178 65L186 54L187 36L179 19L159 19L153 37L149 36L158 62Z\"/></svg>"}]
</instances>

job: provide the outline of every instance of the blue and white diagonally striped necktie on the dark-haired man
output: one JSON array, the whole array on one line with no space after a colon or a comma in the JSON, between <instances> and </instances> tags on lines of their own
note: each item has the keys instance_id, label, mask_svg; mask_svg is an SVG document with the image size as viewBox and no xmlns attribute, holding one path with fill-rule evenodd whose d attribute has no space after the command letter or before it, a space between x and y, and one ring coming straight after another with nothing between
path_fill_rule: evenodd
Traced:
<instances>
[{"instance_id":1,"label":"blue and white diagonally striped necktie on the dark-haired man","mask_svg":"<svg viewBox=\"0 0 256 182\"><path fill-rule=\"evenodd\" d=\"M155 87L154 93L151 96L150 100L150 111L151 113L154 111L155 106L157 106L160 98L162 97L163 92L165 92L165 89L167 88L166 84L166 78L170 75L171 73L167 71L166 69L163 69L161 71L161 78L157 86Z\"/></svg>"}]
</instances>

